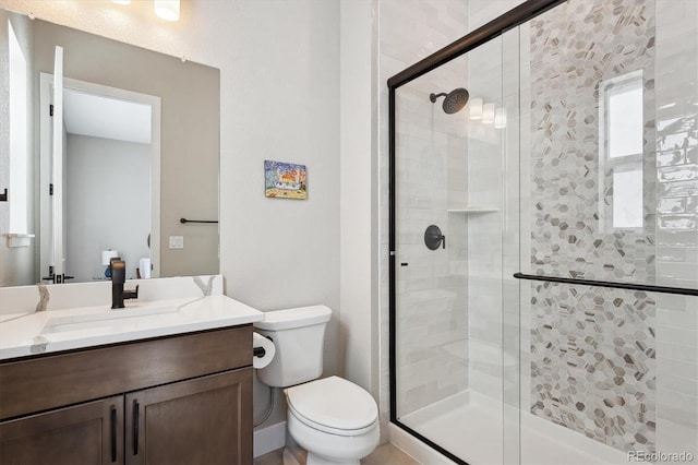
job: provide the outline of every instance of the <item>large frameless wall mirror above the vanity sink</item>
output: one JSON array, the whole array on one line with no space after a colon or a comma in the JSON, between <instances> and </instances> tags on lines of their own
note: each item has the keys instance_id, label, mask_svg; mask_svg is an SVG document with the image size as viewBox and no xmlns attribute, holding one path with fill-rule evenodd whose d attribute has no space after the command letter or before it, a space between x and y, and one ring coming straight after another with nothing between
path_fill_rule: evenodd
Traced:
<instances>
[{"instance_id":1,"label":"large frameless wall mirror above the vanity sink","mask_svg":"<svg viewBox=\"0 0 698 465\"><path fill-rule=\"evenodd\" d=\"M128 278L218 273L219 87L215 68L0 10L0 286L105 279L109 251Z\"/></svg>"}]
</instances>

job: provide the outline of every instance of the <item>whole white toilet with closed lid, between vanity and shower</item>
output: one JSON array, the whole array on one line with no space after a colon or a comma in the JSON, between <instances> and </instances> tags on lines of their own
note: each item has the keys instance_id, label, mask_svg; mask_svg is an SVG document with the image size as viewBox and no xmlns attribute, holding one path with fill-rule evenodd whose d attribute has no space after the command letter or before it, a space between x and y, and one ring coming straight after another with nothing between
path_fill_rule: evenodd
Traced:
<instances>
[{"instance_id":1,"label":"whole white toilet with closed lid, between vanity and shower","mask_svg":"<svg viewBox=\"0 0 698 465\"><path fill-rule=\"evenodd\" d=\"M380 441L378 408L371 394L339 377L317 379L330 317L327 307L312 306L269 311L254 323L276 346L257 377L268 386L284 388L288 432L308 451L308 465L359 464Z\"/></svg>"}]
</instances>

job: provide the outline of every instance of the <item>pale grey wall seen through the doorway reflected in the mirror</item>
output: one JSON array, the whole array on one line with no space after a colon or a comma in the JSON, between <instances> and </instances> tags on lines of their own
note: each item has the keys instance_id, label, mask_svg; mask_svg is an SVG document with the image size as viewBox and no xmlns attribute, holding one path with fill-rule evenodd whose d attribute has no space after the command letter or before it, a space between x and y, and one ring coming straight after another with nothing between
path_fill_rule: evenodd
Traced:
<instances>
[{"instance_id":1,"label":"pale grey wall seen through the doorway reflected in the mirror","mask_svg":"<svg viewBox=\"0 0 698 465\"><path fill-rule=\"evenodd\" d=\"M77 134L65 143L65 274L104 278L101 251L113 249L134 279L151 255L151 146Z\"/></svg>"}]
</instances>

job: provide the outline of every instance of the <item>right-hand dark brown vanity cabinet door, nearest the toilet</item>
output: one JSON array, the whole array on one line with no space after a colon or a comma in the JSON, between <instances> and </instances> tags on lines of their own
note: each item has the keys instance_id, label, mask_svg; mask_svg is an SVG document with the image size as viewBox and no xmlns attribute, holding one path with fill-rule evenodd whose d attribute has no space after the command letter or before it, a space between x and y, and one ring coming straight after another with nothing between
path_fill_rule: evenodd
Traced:
<instances>
[{"instance_id":1,"label":"right-hand dark brown vanity cabinet door, nearest the toilet","mask_svg":"<svg viewBox=\"0 0 698 465\"><path fill-rule=\"evenodd\" d=\"M127 464L251 464L252 368L125 396Z\"/></svg>"}]
</instances>

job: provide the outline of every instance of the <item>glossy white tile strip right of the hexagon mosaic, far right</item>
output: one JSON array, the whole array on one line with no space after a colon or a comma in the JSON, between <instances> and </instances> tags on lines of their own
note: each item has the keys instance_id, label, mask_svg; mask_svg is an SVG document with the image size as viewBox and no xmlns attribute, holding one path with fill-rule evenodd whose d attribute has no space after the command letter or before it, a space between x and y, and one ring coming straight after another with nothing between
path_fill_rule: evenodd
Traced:
<instances>
[{"instance_id":1,"label":"glossy white tile strip right of the hexagon mosaic, far right","mask_svg":"<svg viewBox=\"0 0 698 465\"><path fill-rule=\"evenodd\" d=\"M657 1L657 281L698 287L698 2ZM657 296L657 444L698 463L698 297Z\"/></svg>"}]
</instances>

